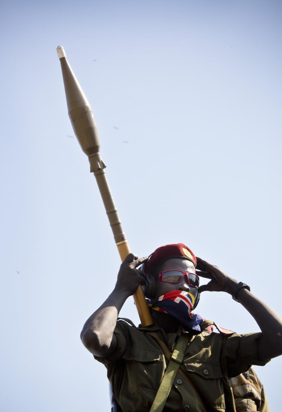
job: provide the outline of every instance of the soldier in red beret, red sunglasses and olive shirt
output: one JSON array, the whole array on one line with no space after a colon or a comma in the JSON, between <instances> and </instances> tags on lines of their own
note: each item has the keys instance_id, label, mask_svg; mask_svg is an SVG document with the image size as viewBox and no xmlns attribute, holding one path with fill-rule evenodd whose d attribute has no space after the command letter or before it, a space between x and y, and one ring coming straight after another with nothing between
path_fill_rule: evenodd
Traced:
<instances>
[{"instance_id":1,"label":"soldier in red beret, red sunglasses and olive shirt","mask_svg":"<svg viewBox=\"0 0 282 412\"><path fill-rule=\"evenodd\" d=\"M136 269L143 263L143 270ZM200 286L199 276L211 281ZM139 284L150 297L154 325L136 328L128 319L118 320L118 313ZM236 383L232 391L228 379L282 354L282 320L249 289L196 259L183 243L157 248L149 260L129 254L113 292L81 332L83 344L106 366L122 411L235 412ZM191 315L205 290L232 295L261 332L238 335ZM205 330L212 324L220 333Z\"/></svg>"}]
</instances>

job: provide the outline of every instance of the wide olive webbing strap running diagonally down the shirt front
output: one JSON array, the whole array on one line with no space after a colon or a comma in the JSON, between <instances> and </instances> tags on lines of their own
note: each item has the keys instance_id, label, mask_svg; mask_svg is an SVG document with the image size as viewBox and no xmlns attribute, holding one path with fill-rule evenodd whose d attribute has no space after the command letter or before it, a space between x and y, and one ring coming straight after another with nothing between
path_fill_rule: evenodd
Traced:
<instances>
[{"instance_id":1,"label":"wide olive webbing strap running diagonally down the shirt front","mask_svg":"<svg viewBox=\"0 0 282 412\"><path fill-rule=\"evenodd\" d=\"M149 334L152 336L155 335L154 332L149 332ZM160 340L160 342L162 341ZM170 355L169 364L167 365L165 375L162 378L162 382L157 391L157 394L151 406L150 412L162 412L165 406L165 403L167 401L167 397L169 396L169 392L172 389L172 384L176 377L176 373L179 370L179 366L181 365L183 361L186 345L187 345L186 336L181 335L172 353L170 353L169 349L167 348L167 350L169 351L169 355Z\"/></svg>"}]
</instances>

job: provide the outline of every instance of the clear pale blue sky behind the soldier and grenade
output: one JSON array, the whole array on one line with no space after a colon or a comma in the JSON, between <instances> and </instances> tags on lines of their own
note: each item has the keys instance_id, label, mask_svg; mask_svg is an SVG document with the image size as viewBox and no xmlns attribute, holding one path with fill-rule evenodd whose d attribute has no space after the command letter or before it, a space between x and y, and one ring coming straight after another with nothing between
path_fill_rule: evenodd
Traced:
<instances>
[{"instance_id":1,"label":"clear pale blue sky behind the soldier and grenade","mask_svg":"<svg viewBox=\"0 0 282 412\"><path fill-rule=\"evenodd\" d=\"M79 335L120 260L69 137L58 44L132 251L186 243L282 314L281 17L271 0L1 2L1 410L110 410L106 369ZM197 311L258 331L223 293ZM138 323L131 298L121 315ZM272 412L281 368L255 368Z\"/></svg>"}]
</instances>

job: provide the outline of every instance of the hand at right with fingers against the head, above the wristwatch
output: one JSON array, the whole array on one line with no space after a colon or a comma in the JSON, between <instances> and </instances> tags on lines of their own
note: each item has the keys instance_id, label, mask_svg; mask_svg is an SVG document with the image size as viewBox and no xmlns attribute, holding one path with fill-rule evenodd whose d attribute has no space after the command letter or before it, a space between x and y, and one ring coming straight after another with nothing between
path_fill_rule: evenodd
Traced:
<instances>
[{"instance_id":1,"label":"hand at right with fingers against the head, above the wristwatch","mask_svg":"<svg viewBox=\"0 0 282 412\"><path fill-rule=\"evenodd\" d=\"M235 285L238 283L236 279L228 276L228 274L219 269L219 267L198 257L196 273L199 276L211 279L207 285L199 287L200 293L209 290L210 292L226 292L232 294Z\"/></svg>"}]
</instances>

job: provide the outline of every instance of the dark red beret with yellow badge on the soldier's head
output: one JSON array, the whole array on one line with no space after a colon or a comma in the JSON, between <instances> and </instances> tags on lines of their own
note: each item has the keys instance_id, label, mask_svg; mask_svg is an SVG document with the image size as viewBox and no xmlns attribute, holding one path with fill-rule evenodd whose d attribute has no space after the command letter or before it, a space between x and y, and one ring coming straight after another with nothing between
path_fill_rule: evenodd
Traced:
<instances>
[{"instance_id":1,"label":"dark red beret with yellow badge on the soldier's head","mask_svg":"<svg viewBox=\"0 0 282 412\"><path fill-rule=\"evenodd\" d=\"M165 262L168 259L180 257L190 260L196 267L197 260L192 250L183 243L174 243L157 248L146 263L144 272L150 272L150 270L152 270L155 266L160 265L162 262Z\"/></svg>"}]
</instances>

